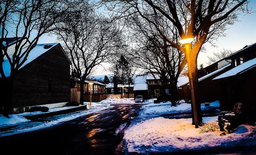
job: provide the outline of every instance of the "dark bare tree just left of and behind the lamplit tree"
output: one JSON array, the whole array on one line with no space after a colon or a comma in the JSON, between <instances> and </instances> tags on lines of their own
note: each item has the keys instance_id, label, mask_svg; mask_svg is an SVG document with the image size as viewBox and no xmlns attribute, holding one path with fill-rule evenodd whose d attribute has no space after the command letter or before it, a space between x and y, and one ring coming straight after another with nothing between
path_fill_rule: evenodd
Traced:
<instances>
[{"instance_id":1,"label":"dark bare tree just left of and behind the lamplit tree","mask_svg":"<svg viewBox=\"0 0 256 155\"><path fill-rule=\"evenodd\" d=\"M132 30L134 45L134 63L145 72L150 72L154 76L160 76L161 83L168 88L172 96L172 106L176 106L177 81L181 71L184 69L186 59L181 51L173 48L167 41L152 27L147 21L138 16L130 16L129 29ZM168 32L168 36L173 37L173 41L178 41L176 29L168 27L167 20L161 20L161 27Z\"/></svg>"}]
</instances>

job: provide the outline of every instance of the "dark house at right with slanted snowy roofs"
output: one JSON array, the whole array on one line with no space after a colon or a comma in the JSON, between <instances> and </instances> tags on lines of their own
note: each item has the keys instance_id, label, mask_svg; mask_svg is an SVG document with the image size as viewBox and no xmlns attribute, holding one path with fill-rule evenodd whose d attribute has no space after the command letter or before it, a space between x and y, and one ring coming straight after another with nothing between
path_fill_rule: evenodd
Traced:
<instances>
[{"instance_id":1,"label":"dark house at right with slanted snowy roofs","mask_svg":"<svg viewBox=\"0 0 256 155\"><path fill-rule=\"evenodd\" d=\"M199 72L200 102L220 101L222 110L242 102L255 109L256 43L209 65ZM189 84L181 85L184 99L190 99Z\"/></svg>"}]
</instances>

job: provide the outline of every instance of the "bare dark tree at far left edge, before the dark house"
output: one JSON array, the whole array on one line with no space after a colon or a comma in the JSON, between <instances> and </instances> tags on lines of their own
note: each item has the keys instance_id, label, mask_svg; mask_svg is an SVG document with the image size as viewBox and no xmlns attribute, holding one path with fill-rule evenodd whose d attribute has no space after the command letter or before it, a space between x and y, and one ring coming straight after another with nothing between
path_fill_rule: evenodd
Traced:
<instances>
[{"instance_id":1,"label":"bare dark tree at far left edge, before the dark house","mask_svg":"<svg viewBox=\"0 0 256 155\"><path fill-rule=\"evenodd\" d=\"M0 1L0 84L4 116L12 113L12 85L18 70L27 61L39 37L55 29L54 24L68 10L68 7L60 6L67 3L58 0ZM8 53L10 36L15 42L12 53Z\"/></svg>"}]
</instances>

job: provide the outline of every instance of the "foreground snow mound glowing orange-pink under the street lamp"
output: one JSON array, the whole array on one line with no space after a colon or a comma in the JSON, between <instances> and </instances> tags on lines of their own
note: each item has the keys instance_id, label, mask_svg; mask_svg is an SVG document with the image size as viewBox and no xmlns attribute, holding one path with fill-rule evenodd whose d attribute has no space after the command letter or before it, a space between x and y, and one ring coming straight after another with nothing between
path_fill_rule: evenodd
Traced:
<instances>
[{"instance_id":1,"label":"foreground snow mound glowing orange-pink under the street lamp","mask_svg":"<svg viewBox=\"0 0 256 155\"><path fill-rule=\"evenodd\" d=\"M215 120L216 117L207 120ZM204 132L191 125L191 119L165 119L143 121L125 131L125 148L141 154L186 152L253 146L256 144L252 126L241 125L232 134L220 136L220 131ZM246 142L246 143L244 143Z\"/></svg>"}]
</instances>

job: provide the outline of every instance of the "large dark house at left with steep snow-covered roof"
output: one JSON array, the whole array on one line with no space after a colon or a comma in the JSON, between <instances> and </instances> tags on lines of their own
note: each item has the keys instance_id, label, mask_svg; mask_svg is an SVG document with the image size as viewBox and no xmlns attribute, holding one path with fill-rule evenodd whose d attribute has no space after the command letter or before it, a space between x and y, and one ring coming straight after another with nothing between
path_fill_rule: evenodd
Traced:
<instances>
[{"instance_id":1,"label":"large dark house at left with steep snow-covered roof","mask_svg":"<svg viewBox=\"0 0 256 155\"><path fill-rule=\"evenodd\" d=\"M4 60L5 75L10 64ZM1 80L1 78L0 78ZM70 101L70 61L59 43L37 44L14 79L12 113L32 106L60 107Z\"/></svg>"}]
</instances>

